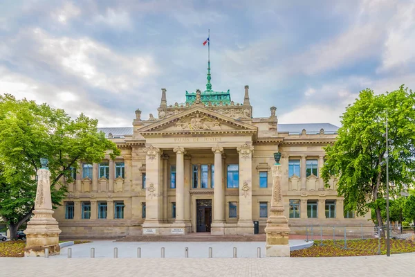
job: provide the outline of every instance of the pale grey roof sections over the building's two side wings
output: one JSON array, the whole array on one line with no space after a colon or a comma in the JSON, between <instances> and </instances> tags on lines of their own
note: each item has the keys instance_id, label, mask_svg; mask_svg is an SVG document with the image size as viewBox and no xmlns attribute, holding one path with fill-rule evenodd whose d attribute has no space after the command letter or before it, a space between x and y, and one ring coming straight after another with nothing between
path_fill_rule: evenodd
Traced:
<instances>
[{"instance_id":1,"label":"pale grey roof sections over the building's two side wings","mask_svg":"<svg viewBox=\"0 0 415 277\"><path fill-rule=\"evenodd\" d=\"M307 134L318 134L320 129L324 129L324 134L336 134L339 127L330 123L299 123L299 124L278 124L278 132L288 132L288 134L301 134L306 129ZM98 128L108 136L109 133L113 138L124 138L125 135L133 134L133 127L105 127Z\"/></svg>"}]
</instances>

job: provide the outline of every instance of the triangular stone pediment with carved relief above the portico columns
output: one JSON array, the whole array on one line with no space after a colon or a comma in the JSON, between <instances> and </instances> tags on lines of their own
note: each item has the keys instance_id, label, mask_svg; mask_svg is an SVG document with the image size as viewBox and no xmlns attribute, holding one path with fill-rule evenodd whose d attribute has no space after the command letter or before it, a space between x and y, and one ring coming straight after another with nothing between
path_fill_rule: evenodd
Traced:
<instances>
[{"instance_id":1,"label":"triangular stone pediment with carved relief above the portico columns","mask_svg":"<svg viewBox=\"0 0 415 277\"><path fill-rule=\"evenodd\" d=\"M216 114L203 107L194 107L139 129L141 134L187 132L257 132L257 127Z\"/></svg>"}]
</instances>

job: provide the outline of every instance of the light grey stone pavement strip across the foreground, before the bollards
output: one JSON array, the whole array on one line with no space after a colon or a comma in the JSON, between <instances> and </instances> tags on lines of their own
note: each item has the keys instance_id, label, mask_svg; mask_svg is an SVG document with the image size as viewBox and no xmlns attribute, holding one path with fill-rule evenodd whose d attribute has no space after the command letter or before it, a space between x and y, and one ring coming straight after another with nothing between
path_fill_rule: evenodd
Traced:
<instances>
[{"instance_id":1,"label":"light grey stone pavement strip across the foreground, before the bollards","mask_svg":"<svg viewBox=\"0 0 415 277\"><path fill-rule=\"evenodd\" d=\"M0 258L0 276L414 276L414 253L343 258Z\"/></svg>"}]
</instances>

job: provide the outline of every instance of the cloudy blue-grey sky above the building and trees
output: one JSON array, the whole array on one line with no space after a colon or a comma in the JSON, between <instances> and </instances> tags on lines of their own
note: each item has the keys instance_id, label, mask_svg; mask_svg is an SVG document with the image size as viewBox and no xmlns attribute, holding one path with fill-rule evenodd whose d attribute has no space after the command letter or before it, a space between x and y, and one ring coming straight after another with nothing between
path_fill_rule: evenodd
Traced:
<instances>
[{"instance_id":1,"label":"cloudy blue-grey sky above the building and trees","mask_svg":"<svg viewBox=\"0 0 415 277\"><path fill-rule=\"evenodd\" d=\"M279 123L332 123L362 89L415 89L415 0L2 0L0 93L131 127L205 89Z\"/></svg>"}]
</instances>

